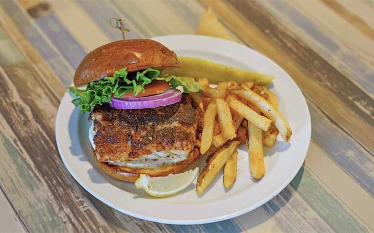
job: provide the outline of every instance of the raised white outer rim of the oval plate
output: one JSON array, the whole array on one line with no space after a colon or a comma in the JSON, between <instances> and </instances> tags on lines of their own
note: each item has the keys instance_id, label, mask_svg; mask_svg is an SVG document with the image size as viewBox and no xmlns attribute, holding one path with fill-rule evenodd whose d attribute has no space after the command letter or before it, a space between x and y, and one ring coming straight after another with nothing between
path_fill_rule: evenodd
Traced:
<instances>
[{"instance_id":1,"label":"raised white outer rim of the oval plate","mask_svg":"<svg viewBox=\"0 0 374 233\"><path fill-rule=\"evenodd\" d=\"M251 205L251 206L248 206L248 207L244 207L242 208L241 210L239 211L236 211L236 212L233 212L233 213L230 213L230 214L227 214L227 215L222 215L222 216L217 216L217 217L210 217L210 218L204 218L204 219L197 219L197 220L174 220L174 219L165 219L165 218L156 218L156 217L151 217L151 216L147 216L147 215L142 215L142 214L139 214L139 213L135 213L135 212L132 212L132 211L128 211L128 210L125 210L123 208L120 208L114 204L112 204L111 202L103 199L100 195L98 195L95 191L93 191L90 187L88 187L83 181L81 181L75 174L75 172L73 172L73 169L71 168L71 166L69 165L69 163L66 161L66 158L64 156L62 156L62 148L60 148L60 143L59 143L59 139L58 139L58 136L59 133L60 133L60 130L58 128L58 125L59 125L59 118L61 117L60 115L62 114L62 108L61 108L61 105L62 105L62 102L63 100L65 99L66 95L69 95L68 92L65 92L63 98L61 99L60 101L60 105L58 107L58 110L57 110L57 114L56 114L56 124L55 124L55 136L56 136L56 145L57 145L57 149L58 149L58 152L60 154L60 157L64 163L64 165L66 166L66 168L68 169L69 173L73 176L73 178L75 179L75 181L77 181L84 189L86 189L91 195L93 195L96 199L102 201L103 203L105 203L106 205L109 205L111 206L113 209L116 209L122 213L125 213L125 214L128 214L128 215L131 215L131 216L134 216L134 217L138 217L138 218L141 218L141 219L144 219L144 220L149 220L149 221L154 221L154 222L159 222L159 223L165 223L165 224L179 224L179 225L187 225L187 224L205 224L205 223L212 223L212 222L217 222L217 221L222 221L222 220L226 220L226 219L229 219L229 218L233 218L233 217L236 217L236 216L240 216L240 215L243 215L247 212L250 212L260 206L262 206L264 203L266 203L267 201L271 200L272 198L274 198L275 196L277 196L291 181L292 179L295 178L295 176L297 175L297 173L299 172L299 169L300 167L302 166L305 158L306 158L306 154L308 152L308 149L309 149L309 146L310 146L310 139L311 139L311 116L310 116L310 111L309 111L309 108L308 108L308 105L307 105L307 102L305 100L305 97L304 95L302 94L301 90L299 89L299 86L295 83L295 81L291 78L290 75L288 75L288 73L286 71L284 71L277 63L275 63L274 61L272 61L270 58L266 57L265 55L263 55L262 53L256 51L256 50L253 50L247 46L244 46L242 44L239 44L239 43L236 43L236 42L232 42L232 41L227 41L227 40L224 40L224 39L220 39L220 38L216 38L216 37L210 37L210 36L204 36L204 35L185 35L185 34L177 34L177 35L164 35L164 36L157 36L157 37L152 37L150 39L154 39L154 40L162 40L162 39L165 39L165 38L170 38L170 37L201 37L201 38L205 38L205 39L208 39L208 40L216 40L216 41L219 41L220 43L232 43L232 44L235 44L236 46L241 46L243 47L243 49L246 49L246 50L251 50L252 52L255 52L257 53L257 55L259 56L262 56L263 58L265 58L266 60L269 60L271 63L273 63L274 65L276 65L277 67L279 67L285 74L287 74L287 76L289 77L290 81L294 84L294 86L296 87L296 90L299 92L299 94L303 97L302 98L302 102L303 104L306 106L306 116L307 116L307 119L305 119L305 123L306 123L306 127L307 127L307 143L306 143L306 147L304 149L304 151L302 151L303 153L303 157L302 159L300 159L300 163L298 166L295 166L293 172L291 173L292 175L290 175L288 177L288 179L281 185L279 186L277 189L275 189L275 191L273 191L273 195L269 195L269 196L266 196L264 197L261 201L258 201L256 204L254 205ZM239 193L238 193L239 194ZM236 194L236 195L238 195Z\"/></svg>"}]
</instances>

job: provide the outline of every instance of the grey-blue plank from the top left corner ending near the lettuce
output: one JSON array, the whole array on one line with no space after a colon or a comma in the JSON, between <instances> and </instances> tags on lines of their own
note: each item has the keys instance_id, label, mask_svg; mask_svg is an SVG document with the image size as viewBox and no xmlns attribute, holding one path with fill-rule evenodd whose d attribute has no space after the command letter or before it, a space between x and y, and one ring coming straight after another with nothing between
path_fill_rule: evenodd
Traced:
<instances>
[{"instance_id":1,"label":"grey-blue plank from the top left corner ending near the lettuce","mask_svg":"<svg viewBox=\"0 0 374 233\"><path fill-rule=\"evenodd\" d=\"M44 58L45 62L58 76L61 83L69 86L73 81L74 70L62 57L61 53L46 40L45 36L37 30L30 17L13 0L0 1L0 5L8 13L9 17L18 26L21 33L30 41L34 48Z\"/></svg>"}]
</instances>

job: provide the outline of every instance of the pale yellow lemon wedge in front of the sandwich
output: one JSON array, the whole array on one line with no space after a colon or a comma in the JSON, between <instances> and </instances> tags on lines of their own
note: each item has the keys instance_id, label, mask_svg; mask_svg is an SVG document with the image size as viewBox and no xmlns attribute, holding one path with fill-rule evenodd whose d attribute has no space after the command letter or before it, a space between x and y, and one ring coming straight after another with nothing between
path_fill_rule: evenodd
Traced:
<instances>
[{"instance_id":1,"label":"pale yellow lemon wedge in front of the sandwich","mask_svg":"<svg viewBox=\"0 0 374 233\"><path fill-rule=\"evenodd\" d=\"M199 167L179 174L169 174L165 177L150 177L141 174L135 181L136 188L143 188L153 197L167 197L186 189L199 174Z\"/></svg>"}]
</instances>

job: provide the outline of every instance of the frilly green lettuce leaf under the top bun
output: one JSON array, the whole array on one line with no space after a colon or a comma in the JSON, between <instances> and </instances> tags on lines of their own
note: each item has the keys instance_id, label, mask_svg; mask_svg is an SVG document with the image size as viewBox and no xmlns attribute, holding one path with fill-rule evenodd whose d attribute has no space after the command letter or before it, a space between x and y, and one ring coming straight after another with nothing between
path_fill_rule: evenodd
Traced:
<instances>
[{"instance_id":1,"label":"frilly green lettuce leaf under the top bun","mask_svg":"<svg viewBox=\"0 0 374 233\"><path fill-rule=\"evenodd\" d=\"M111 103L112 95L114 98L120 98L126 93L132 92L137 96L140 92L145 92L144 86L153 80L163 80L170 84L172 88L182 86L184 92L201 92L200 86L193 78L177 77L165 74L160 76L157 69L148 68L144 71L132 73L130 77L126 68L114 71L113 77L105 77L103 80L92 81L88 83L85 90L75 87L68 89L75 94L77 98L72 103L79 107L82 113L91 112L96 105Z\"/></svg>"}]
</instances>

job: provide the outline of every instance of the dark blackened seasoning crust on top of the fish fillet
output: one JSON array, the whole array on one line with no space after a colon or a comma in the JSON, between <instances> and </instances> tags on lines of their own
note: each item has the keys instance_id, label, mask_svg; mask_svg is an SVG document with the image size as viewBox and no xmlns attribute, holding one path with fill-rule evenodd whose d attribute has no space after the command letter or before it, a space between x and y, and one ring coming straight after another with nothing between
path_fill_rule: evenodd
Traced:
<instances>
[{"instance_id":1,"label":"dark blackened seasoning crust on top of the fish fillet","mask_svg":"<svg viewBox=\"0 0 374 233\"><path fill-rule=\"evenodd\" d=\"M108 104L96 106L91 115L93 140L99 161L125 161L154 151L184 151L195 145L197 111L187 94L168 106L122 110Z\"/></svg>"}]
</instances>

